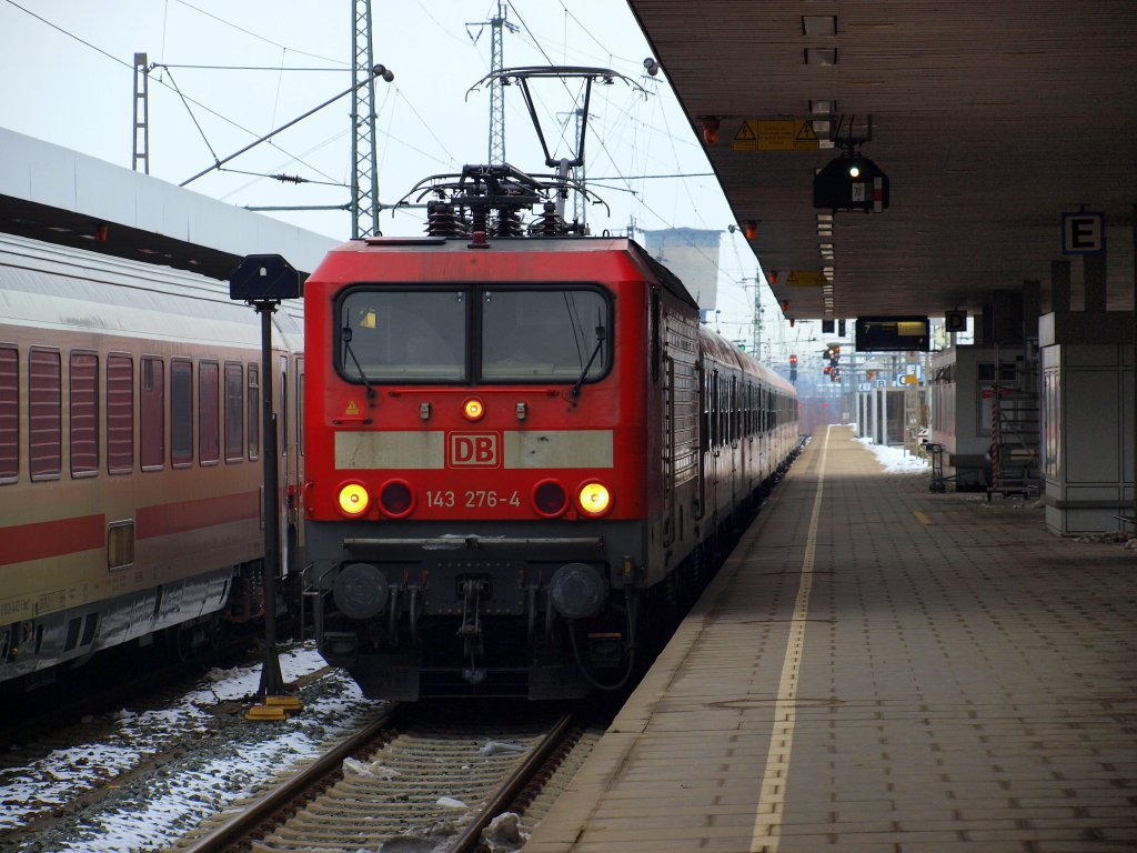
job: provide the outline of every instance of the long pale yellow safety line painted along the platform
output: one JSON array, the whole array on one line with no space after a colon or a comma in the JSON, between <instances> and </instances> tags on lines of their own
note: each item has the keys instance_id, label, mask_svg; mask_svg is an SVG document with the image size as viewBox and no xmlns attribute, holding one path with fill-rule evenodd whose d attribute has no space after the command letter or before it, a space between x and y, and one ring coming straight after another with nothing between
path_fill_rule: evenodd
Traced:
<instances>
[{"instance_id":1,"label":"long pale yellow safety line painted along the platform","mask_svg":"<svg viewBox=\"0 0 1137 853\"><path fill-rule=\"evenodd\" d=\"M813 561L818 545L818 524L821 521L821 496L824 491L825 452L829 449L829 426L821 446L818 464L818 494L813 498L813 516L805 541L805 558L802 561L802 585L794 603L789 639L786 644L786 660L782 662L781 680L778 682L778 701L774 703L774 728L770 735L770 751L766 753L766 770L758 790L758 810L754 815L754 834L750 853L777 853L781 839L782 812L786 806L786 784L789 777L789 754L794 746L794 723L797 719L797 681L805 648L806 614L810 611L810 590L813 588Z\"/></svg>"}]
</instances>

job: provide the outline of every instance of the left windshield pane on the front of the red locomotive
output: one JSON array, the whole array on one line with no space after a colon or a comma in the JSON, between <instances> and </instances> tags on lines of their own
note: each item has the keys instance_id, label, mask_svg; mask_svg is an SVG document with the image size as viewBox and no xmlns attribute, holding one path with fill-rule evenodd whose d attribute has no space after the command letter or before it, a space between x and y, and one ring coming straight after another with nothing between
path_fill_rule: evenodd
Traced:
<instances>
[{"instance_id":1,"label":"left windshield pane on the front of the red locomotive","mask_svg":"<svg viewBox=\"0 0 1137 853\"><path fill-rule=\"evenodd\" d=\"M340 304L337 366L354 382L460 382L464 290L354 290Z\"/></svg>"}]
</instances>

